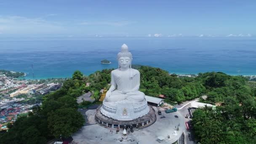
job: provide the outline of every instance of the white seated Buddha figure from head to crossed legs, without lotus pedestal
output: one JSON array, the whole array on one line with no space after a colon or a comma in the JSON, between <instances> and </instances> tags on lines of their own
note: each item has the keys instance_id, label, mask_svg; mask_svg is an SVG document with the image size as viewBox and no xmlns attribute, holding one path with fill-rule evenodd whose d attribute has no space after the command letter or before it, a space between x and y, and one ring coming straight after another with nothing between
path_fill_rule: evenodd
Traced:
<instances>
[{"instance_id":1,"label":"white seated Buddha figure from head to crossed legs, without lotus pedestal","mask_svg":"<svg viewBox=\"0 0 256 144\"><path fill-rule=\"evenodd\" d=\"M137 103L144 101L144 93L139 91L140 73L131 68L132 54L123 44L117 54L118 69L111 72L111 87L106 93L106 102L125 101Z\"/></svg>"}]
</instances>

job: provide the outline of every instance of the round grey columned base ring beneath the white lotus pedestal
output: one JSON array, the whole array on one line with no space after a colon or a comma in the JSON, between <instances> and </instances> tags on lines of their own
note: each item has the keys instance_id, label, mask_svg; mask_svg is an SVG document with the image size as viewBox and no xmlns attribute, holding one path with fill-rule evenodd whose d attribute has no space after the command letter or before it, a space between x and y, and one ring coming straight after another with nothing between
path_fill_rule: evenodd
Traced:
<instances>
[{"instance_id":1,"label":"round grey columned base ring beneath the white lotus pedestal","mask_svg":"<svg viewBox=\"0 0 256 144\"><path fill-rule=\"evenodd\" d=\"M113 120L112 118L106 117L101 114L100 111L101 107L98 107L96 109L96 115L95 120L96 123L103 127L109 127L109 128L130 128L131 126L133 128L146 128L149 125L152 125L156 121L156 115L155 115L155 109L153 109L151 106L149 106L149 113L147 115L144 115L143 117L139 117L136 120L131 121L118 121Z\"/></svg>"}]
</instances>

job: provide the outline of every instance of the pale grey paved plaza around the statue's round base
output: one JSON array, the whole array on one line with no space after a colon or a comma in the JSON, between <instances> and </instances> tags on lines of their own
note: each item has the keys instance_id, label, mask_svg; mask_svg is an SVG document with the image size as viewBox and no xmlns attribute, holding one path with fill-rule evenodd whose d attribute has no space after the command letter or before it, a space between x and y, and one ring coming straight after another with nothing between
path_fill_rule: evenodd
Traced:
<instances>
[{"instance_id":1,"label":"pale grey paved plaza around the statue's round base","mask_svg":"<svg viewBox=\"0 0 256 144\"><path fill-rule=\"evenodd\" d=\"M127 128L127 139L125 140L122 139L122 128L118 132L113 128L104 128L96 122L83 126L72 134L72 138L79 144L172 144L179 139L181 143L182 133L185 129L185 119L179 113L179 110L171 113L162 112L162 115L158 115L157 107L152 108L155 109L155 123L147 128L133 128L133 132L131 132L131 128ZM91 112L94 112L95 115L96 109ZM89 115L93 115L93 113ZM161 141L160 137L162 137Z\"/></svg>"}]
</instances>

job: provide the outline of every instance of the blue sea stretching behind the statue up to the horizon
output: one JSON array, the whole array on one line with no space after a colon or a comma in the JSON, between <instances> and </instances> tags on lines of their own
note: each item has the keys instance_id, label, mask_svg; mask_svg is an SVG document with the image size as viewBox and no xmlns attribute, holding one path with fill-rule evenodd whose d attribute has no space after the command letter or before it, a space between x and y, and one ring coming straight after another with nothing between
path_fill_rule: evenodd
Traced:
<instances>
[{"instance_id":1,"label":"blue sea stretching behind the statue up to the horizon","mask_svg":"<svg viewBox=\"0 0 256 144\"><path fill-rule=\"evenodd\" d=\"M26 72L26 79L33 79L33 70L36 79L72 77L75 70L89 75L116 68L123 43L133 54L133 64L160 67L169 73L256 75L256 38L252 37L0 40L0 69ZM102 59L112 64L101 64Z\"/></svg>"}]
</instances>

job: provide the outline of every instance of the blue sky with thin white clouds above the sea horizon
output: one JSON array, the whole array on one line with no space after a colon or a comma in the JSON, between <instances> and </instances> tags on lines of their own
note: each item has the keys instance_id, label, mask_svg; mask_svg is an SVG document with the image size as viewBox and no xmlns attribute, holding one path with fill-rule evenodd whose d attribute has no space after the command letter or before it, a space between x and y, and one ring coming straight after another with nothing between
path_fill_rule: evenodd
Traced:
<instances>
[{"instance_id":1,"label":"blue sky with thin white clouds above the sea horizon","mask_svg":"<svg viewBox=\"0 0 256 144\"><path fill-rule=\"evenodd\" d=\"M256 0L0 0L0 36L251 37Z\"/></svg>"}]
</instances>

